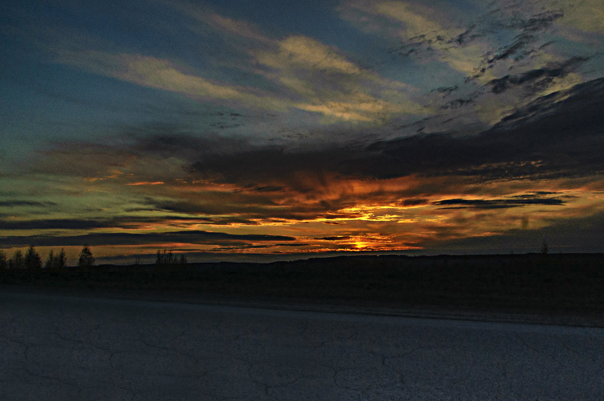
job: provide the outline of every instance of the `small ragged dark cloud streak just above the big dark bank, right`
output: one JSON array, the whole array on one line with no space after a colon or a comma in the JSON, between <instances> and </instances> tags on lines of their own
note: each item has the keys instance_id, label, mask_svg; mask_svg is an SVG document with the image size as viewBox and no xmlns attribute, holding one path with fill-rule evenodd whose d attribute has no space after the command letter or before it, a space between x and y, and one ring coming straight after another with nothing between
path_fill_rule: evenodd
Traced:
<instances>
[{"instance_id":1,"label":"small ragged dark cloud streak just above the big dark bank, right","mask_svg":"<svg viewBox=\"0 0 604 401\"><path fill-rule=\"evenodd\" d=\"M545 89L554 78L562 78L576 71L577 66L589 60L589 57L572 57L564 63L551 63L544 68L532 69L519 75L506 75L489 81L493 93L505 92L515 86L527 86L533 91Z\"/></svg>"}]
</instances>

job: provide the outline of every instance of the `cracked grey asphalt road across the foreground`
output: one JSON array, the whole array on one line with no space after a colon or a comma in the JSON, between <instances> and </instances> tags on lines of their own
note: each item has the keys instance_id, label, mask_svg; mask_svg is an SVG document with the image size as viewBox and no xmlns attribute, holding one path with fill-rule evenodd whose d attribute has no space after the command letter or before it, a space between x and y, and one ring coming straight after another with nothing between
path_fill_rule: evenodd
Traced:
<instances>
[{"instance_id":1,"label":"cracked grey asphalt road across the foreground","mask_svg":"<svg viewBox=\"0 0 604 401\"><path fill-rule=\"evenodd\" d=\"M0 293L0 400L601 400L604 329Z\"/></svg>"}]
</instances>

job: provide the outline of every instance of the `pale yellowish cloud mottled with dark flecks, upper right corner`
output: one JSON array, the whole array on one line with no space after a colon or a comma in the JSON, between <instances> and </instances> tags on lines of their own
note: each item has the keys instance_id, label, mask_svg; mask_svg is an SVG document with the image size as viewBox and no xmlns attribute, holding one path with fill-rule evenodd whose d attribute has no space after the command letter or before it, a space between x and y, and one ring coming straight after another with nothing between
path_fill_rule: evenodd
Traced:
<instances>
[{"instance_id":1,"label":"pale yellowish cloud mottled with dark flecks, upper right corner","mask_svg":"<svg viewBox=\"0 0 604 401\"><path fill-rule=\"evenodd\" d=\"M441 72L448 85L430 92L438 116L416 125L434 132L443 130L437 128L446 121L441 116L466 124L472 119L495 124L522 104L586 81L585 71L597 69L593 60L600 58L596 49L601 37L583 39L576 34L568 36L569 43L559 35L568 31L564 24L590 8L565 1L501 1L461 8L440 2L349 0L338 11L343 19L388 43L399 37L391 54L403 57L407 68L442 71L446 65L461 74ZM591 47L576 46L569 52L585 40L591 40ZM512 88L517 90L503 96Z\"/></svg>"}]
</instances>

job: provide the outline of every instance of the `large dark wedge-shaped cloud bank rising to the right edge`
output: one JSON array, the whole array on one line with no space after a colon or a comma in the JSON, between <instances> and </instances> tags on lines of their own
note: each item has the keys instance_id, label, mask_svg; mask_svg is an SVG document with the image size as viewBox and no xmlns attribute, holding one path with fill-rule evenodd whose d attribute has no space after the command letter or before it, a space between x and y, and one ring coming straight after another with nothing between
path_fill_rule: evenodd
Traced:
<instances>
[{"instance_id":1,"label":"large dark wedge-shaped cloud bank rising to the right edge","mask_svg":"<svg viewBox=\"0 0 604 401\"><path fill-rule=\"evenodd\" d=\"M518 110L477 136L429 134L376 142L374 157L347 164L377 177L468 175L479 179L573 177L604 170L604 79Z\"/></svg>"}]
</instances>

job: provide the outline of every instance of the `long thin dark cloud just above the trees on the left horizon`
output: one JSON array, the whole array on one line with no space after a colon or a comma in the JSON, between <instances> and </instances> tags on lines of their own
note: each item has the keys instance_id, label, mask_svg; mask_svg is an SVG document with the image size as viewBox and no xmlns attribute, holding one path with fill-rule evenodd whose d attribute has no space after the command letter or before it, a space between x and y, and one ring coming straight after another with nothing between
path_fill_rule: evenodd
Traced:
<instances>
[{"instance_id":1,"label":"long thin dark cloud just above the trees on the left horizon","mask_svg":"<svg viewBox=\"0 0 604 401\"><path fill-rule=\"evenodd\" d=\"M294 241L295 238L283 235L236 235L207 231L179 231L164 233L97 233L76 236L5 236L0 238L0 245L37 246L79 246L88 245L144 245L162 242L182 242L186 244L211 244L245 246L248 241Z\"/></svg>"}]
</instances>

